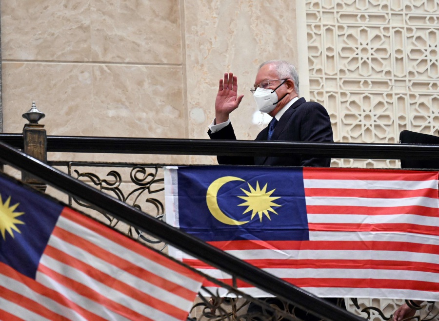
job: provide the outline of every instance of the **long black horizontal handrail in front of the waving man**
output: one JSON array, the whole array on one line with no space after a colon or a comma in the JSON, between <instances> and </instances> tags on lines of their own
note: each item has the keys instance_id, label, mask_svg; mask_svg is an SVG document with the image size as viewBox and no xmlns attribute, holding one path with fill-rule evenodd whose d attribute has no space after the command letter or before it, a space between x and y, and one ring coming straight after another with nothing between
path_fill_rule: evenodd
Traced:
<instances>
[{"instance_id":1,"label":"long black horizontal handrail in front of the waving man","mask_svg":"<svg viewBox=\"0 0 439 321\"><path fill-rule=\"evenodd\" d=\"M22 134L0 134L0 141L21 149ZM319 155L358 159L439 159L439 145L162 138L47 136L48 152L172 154L220 156Z\"/></svg>"}]
</instances>

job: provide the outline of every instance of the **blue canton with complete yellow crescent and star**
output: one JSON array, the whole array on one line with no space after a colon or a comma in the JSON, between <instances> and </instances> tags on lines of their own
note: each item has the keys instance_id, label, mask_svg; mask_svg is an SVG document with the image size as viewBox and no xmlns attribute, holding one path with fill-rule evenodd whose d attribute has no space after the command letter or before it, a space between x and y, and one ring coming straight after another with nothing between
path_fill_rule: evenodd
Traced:
<instances>
[{"instance_id":1,"label":"blue canton with complete yellow crescent and star","mask_svg":"<svg viewBox=\"0 0 439 321\"><path fill-rule=\"evenodd\" d=\"M204 241L309 240L301 169L181 167L180 229Z\"/></svg>"}]
</instances>

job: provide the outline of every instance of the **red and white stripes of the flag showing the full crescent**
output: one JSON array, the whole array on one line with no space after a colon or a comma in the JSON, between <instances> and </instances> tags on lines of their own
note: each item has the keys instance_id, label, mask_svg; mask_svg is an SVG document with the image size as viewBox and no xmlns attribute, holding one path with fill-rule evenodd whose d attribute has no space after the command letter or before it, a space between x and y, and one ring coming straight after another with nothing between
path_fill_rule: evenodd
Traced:
<instances>
[{"instance_id":1,"label":"red and white stripes of the flag showing the full crescent","mask_svg":"<svg viewBox=\"0 0 439 321\"><path fill-rule=\"evenodd\" d=\"M437 172L304 168L303 178L310 241L209 243L320 297L439 301ZM231 284L230 275L175 255Z\"/></svg>"}]
</instances>

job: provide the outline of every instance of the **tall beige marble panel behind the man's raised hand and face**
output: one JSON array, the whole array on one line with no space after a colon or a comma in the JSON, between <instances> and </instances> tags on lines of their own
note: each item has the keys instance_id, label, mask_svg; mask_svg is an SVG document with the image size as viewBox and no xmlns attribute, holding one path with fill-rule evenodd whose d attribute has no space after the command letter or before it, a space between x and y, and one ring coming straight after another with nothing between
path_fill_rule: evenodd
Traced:
<instances>
[{"instance_id":1,"label":"tall beige marble panel behind the man's raised hand and face","mask_svg":"<svg viewBox=\"0 0 439 321\"><path fill-rule=\"evenodd\" d=\"M296 1L185 1L185 49L190 138L208 139L218 83L224 72L238 76L244 98L231 115L239 139L254 139L266 124L249 91L265 60L297 63ZM255 119L254 119L255 117ZM264 123L269 121L265 117ZM197 161L197 157L191 158ZM206 159L205 159L206 160ZM209 158L207 158L209 160Z\"/></svg>"}]
</instances>

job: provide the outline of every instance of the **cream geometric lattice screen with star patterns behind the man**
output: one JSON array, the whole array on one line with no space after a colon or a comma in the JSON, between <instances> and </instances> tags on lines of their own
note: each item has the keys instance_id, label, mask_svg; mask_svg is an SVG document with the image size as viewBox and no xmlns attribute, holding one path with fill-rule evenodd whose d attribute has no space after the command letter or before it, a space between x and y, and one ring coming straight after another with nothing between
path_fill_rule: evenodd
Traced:
<instances>
[{"instance_id":1,"label":"cream geometric lattice screen with star patterns behind the man","mask_svg":"<svg viewBox=\"0 0 439 321\"><path fill-rule=\"evenodd\" d=\"M310 99L334 140L396 143L439 131L439 0L307 0ZM398 167L334 160L333 166Z\"/></svg>"}]
</instances>

